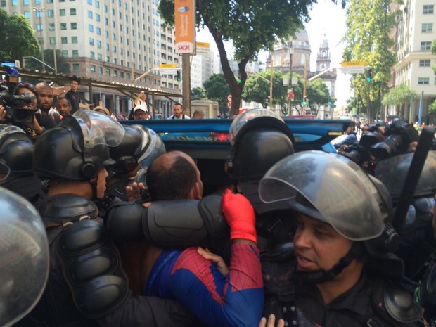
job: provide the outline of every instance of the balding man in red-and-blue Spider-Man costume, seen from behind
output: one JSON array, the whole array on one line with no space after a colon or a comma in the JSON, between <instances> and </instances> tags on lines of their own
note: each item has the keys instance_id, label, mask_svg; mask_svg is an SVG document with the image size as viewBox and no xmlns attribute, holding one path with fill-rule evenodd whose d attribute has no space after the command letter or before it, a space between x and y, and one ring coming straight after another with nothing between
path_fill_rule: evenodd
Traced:
<instances>
[{"instance_id":1,"label":"balding man in red-and-blue Spider-Man costume, seen from behind","mask_svg":"<svg viewBox=\"0 0 436 327\"><path fill-rule=\"evenodd\" d=\"M185 153L173 151L156 159L148 168L146 182L153 200L151 211L164 202L161 200L186 202L179 206L183 211L184 207L197 207L202 198L200 172ZM203 248L164 250L142 237L120 245L129 287L138 295L177 299L207 326L257 326L262 316L263 283L255 212L241 194L227 190L224 197L217 197L230 227L229 269L221 257ZM186 224L182 217L188 215L177 215L180 224ZM114 216L106 220L110 231L118 229ZM126 224L125 216L120 224Z\"/></svg>"}]
</instances>

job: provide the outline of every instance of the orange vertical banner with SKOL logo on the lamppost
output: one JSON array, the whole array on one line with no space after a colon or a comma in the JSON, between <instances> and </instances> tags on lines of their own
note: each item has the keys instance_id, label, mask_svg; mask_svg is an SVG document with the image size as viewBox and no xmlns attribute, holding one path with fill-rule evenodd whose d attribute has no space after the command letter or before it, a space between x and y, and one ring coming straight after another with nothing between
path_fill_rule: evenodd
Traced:
<instances>
[{"instance_id":1,"label":"orange vertical banner with SKOL logo on the lamppost","mask_svg":"<svg viewBox=\"0 0 436 327\"><path fill-rule=\"evenodd\" d=\"M195 0L174 0L176 53L195 53Z\"/></svg>"}]
</instances>

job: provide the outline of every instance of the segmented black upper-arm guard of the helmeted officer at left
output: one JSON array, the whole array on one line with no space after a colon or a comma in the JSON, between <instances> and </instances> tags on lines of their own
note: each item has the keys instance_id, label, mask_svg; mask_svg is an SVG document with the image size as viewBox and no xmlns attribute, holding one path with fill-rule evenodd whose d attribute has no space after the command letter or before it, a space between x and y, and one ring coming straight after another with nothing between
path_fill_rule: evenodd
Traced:
<instances>
[{"instance_id":1,"label":"segmented black upper-arm guard of the helmeted officer at left","mask_svg":"<svg viewBox=\"0 0 436 327\"><path fill-rule=\"evenodd\" d=\"M127 297L120 253L103 224L82 220L60 233L56 255L79 312L87 318L110 313Z\"/></svg>"}]
</instances>

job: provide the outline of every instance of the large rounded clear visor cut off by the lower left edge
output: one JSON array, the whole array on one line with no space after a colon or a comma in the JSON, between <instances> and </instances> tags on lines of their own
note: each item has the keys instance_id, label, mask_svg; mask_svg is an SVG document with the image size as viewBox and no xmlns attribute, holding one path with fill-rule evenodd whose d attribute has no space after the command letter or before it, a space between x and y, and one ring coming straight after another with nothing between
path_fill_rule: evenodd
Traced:
<instances>
[{"instance_id":1,"label":"large rounded clear visor cut off by the lower left edge","mask_svg":"<svg viewBox=\"0 0 436 327\"><path fill-rule=\"evenodd\" d=\"M49 245L37 210L0 187L0 326L12 326L41 297L49 274Z\"/></svg>"}]
</instances>

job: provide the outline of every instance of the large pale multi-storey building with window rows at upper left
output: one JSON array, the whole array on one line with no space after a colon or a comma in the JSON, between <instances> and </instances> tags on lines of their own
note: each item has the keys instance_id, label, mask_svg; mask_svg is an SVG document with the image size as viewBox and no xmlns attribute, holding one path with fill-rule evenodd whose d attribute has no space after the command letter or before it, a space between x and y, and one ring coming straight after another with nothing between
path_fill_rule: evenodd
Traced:
<instances>
[{"instance_id":1,"label":"large pale multi-storey building with window rows at upper left","mask_svg":"<svg viewBox=\"0 0 436 327\"><path fill-rule=\"evenodd\" d=\"M155 69L160 63L179 65L181 58L174 50L174 30L161 25L158 5L159 0L0 1L6 12L29 19L44 49L62 51L73 75L179 92L181 82L174 75L162 77ZM148 74L134 82L144 72ZM101 100L116 112L131 108L123 94L93 93L94 103ZM152 100L156 112L171 110L167 99Z\"/></svg>"}]
</instances>

